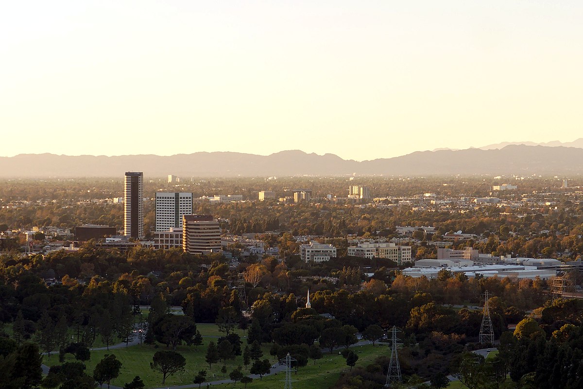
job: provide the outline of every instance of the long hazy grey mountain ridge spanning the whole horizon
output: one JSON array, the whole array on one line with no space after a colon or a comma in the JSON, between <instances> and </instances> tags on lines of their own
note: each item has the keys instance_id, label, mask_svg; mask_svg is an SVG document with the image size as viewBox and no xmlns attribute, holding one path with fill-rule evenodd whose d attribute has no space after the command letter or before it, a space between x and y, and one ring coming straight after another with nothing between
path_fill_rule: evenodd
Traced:
<instances>
[{"instance_id":1,"label":"long hazy grey mountain ridge spanning the whole horizon","mask_svg":"<svg viewBox=\"0 0 583 389\"><path fill-rule=\"evenodd\" d=\"M198 152L173 156L65 156L25 154L0 157L0 177L121 177L143 171L146 177L339 176L441 174L573 174L583 173L583 149L564 146L508 145L502 149L415 152L363 162L333 154L288 150L268 156Z\"/></svg>"}]
</instances>

